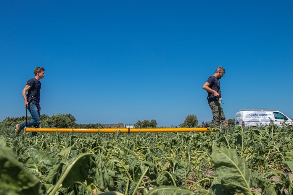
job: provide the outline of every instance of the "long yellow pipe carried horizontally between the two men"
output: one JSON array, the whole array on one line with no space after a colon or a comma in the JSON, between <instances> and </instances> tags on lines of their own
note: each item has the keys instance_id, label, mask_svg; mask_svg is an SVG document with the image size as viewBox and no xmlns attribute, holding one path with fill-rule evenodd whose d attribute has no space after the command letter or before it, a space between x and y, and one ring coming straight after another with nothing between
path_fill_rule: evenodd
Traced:
<instances>
[{"instance_id":1,"label":"long yellow pipe carried horizontally between the two men","mask_svg":"<svg viewBox=\"0 0 293 195\"><path fill-rule=\"evenodd\" d=\"M214 128L211 128L214 129ZM128 131L129 130L129 131ZM158 129L53 129L53 128L26 128L24 132L43 132L43 133L53 133L53 132L62 132L62 133L116 133L116 131L120 131L121 133L164 133L164 132L204 132L209 131L207 128L158 128Z\"/></svg>"}]
</instances>

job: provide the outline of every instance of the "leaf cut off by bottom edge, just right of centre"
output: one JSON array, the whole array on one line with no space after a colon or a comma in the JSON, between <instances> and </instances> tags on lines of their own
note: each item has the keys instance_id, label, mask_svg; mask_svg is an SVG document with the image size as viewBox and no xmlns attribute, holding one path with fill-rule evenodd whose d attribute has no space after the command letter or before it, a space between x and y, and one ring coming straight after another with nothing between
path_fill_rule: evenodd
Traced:
<instances>
[{"instance_id":1,"label":"leaf cut off by bottom edge, just right of centre","mask_svg":"<svg viewBox=\"0 0 293 195\"><path fill-rule=\"evenodd\" d=\"M175 187L175 186L160 186L157 188L152 189L147 193L148 195L165 195L165 194L172 194L172 195L193 195L195 194L193 191Z\"/></svg>"}]
</instances>

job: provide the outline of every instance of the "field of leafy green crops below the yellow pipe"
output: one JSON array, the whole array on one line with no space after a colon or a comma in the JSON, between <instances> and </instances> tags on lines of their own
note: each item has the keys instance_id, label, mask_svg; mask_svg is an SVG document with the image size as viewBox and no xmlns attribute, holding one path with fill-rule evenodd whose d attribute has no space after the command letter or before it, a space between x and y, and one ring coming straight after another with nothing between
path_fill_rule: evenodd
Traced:
<instances>
[{"instance_id":1,"label":"field of leafy green crops below the yellow pipe","mask_svg":"<svg viewBox=\"0 0 293 195\"><path fill-rule=\"evenodd\" d=\"M293 194L290 126L30 135L0 128L0 194Z\"/></svg>"}]
</instances>

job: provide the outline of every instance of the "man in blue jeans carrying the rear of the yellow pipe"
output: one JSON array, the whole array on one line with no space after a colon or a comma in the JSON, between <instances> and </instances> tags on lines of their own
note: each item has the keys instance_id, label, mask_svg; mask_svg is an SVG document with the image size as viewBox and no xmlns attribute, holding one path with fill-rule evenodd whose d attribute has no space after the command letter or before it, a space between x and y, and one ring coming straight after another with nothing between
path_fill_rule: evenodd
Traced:
<instances>
[{"instance_id":1,"label":"man in blue jeans carrying the rear of the yellow pipe","mask_svg":"<svg viewBox=\"0 0 293 195\"><path fill-rule=\"evenodd\" d=\"M33 71L35 77L28 80L25 85L25 88L22 90L22 96L25 100L25 108L30 111L30 115L33 117L33 120L27 122L27 126L33 125L35 128L38 128L40 125L40 90L41 82L40 80L44 78L45 69L36 67ZM28 94L26 94L28 92ZM16 136L19 136L20 131L25 127L25 123L17 124L15 126ZM32 133L32 137L36 136L36 132Z\"/></svg>"}]
</instances>

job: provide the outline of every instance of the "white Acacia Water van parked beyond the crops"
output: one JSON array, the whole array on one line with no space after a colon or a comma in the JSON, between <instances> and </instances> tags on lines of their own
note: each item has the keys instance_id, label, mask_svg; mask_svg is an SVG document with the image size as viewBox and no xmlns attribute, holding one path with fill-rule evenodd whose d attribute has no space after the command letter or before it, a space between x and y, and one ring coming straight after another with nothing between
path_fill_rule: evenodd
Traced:
<instances>
[{"instance_id":1,"label":"white Acacia Water van parked beyond the crops","mask_svg":"<svg viewBox=\"0 0 293 195\"><path fill-rule=\"evenodd\" d=\"M239 110L235 116L235 126L259 126L274 124L282 126L283 122L292 125L293 121L283 113L273 109L245 109Z\"/></svg>"}]
</instances>

